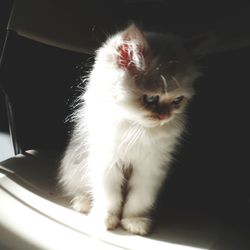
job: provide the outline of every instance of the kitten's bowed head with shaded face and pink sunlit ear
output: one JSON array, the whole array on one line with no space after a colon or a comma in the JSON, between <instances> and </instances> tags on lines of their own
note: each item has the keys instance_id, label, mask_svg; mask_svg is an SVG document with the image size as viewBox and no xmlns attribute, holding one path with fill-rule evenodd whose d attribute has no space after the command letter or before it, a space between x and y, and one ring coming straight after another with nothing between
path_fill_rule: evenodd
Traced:
<instances>
[{"instance_id":1,"label":"kitten's bowed head with shaded face and pink sunlit ear","mask_svg":"<svg viewBox=\"0 0 250 250\"><path fill-rule=\"evenodd\" d=\"M119 115L146 127L183 113L199 76L180 41L142 33L134 24L110 37L98 50L95 67L109 76Z\"/></svg>"}]
</instances>

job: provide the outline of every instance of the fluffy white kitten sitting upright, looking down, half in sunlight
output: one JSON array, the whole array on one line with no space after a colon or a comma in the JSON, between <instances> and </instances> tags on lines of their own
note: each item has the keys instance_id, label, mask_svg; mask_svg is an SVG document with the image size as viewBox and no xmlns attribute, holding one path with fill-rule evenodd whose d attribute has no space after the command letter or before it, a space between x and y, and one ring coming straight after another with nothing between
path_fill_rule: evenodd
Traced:
<instances>
[{"instance_id":1,"label":"fluffy white kitten sitting upright, looking down, half in sunlight","mask_svg":"<svg viewBox=\"0 0 250 250\"><path fill-rule=\"evenodd\" d=\"M97 50L59 173L73 209L149 233L198 76L178 39L134 24Z\"/></svg>"}]
</instances>

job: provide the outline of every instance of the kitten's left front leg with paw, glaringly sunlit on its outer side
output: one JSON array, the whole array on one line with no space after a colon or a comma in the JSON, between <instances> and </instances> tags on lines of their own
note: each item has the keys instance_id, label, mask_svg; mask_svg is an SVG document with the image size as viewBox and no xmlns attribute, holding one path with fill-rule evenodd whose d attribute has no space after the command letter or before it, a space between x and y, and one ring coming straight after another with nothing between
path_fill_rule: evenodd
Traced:
<instances>
[{"instance_id":1,"label":"kitten's left front leg with paw, glaringly sunlit on its outer side","mask_svg":"<svg viewBox=\"0 0 250 250\"><path fill-rule=\"evenodd\" d=\"M104 162L102 162L102 167ZM90 216L101 221L108 230L115 229L120 223L122 206L123 174L117 165L106 165L93 173L93 207Z\"/></svg>"}]
</instances>

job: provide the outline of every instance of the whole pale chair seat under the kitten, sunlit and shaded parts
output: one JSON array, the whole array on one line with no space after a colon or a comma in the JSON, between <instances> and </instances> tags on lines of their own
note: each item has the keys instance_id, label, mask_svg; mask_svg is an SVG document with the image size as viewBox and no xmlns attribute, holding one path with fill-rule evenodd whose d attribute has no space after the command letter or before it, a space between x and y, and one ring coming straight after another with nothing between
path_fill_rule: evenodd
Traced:
<instances>
[{"instance_id":1,"label":"whole pale chair seat under the kitten, sunlit and shaded parts","mask_svg":"<svg viewBox=\"0 0 250 250\"><path fill-rule=\"evenodd\" d=\"M56 185L59 162L60 156L57 153L29 150L0 163L0 225L4 232L7 230L19 235L18 244L27 247L30 244L25 239L28 234L32 244L35 244L32 249L67 249L68 243L65 242L63 245L56 242L58 234L53 236L54 243L41 241L41 238L49 239L49 235L55 233L50 231L52 228L57 228L62 233L61 235L72 235L79 243L78 248L82 246L85 238L85 244L89 242L92 247L97 247L93 249L99 249L98 246L101 246L100 249L105 249L105 247L108 247L107 249L139 249L138 247L142 245L150 246L147 249L154 247L176 250L200 249L195 247L207 249L218 238L221 231L220 225L209 222L208 219L197 218L195 215L191 216L190 220L177 214L170 223L162 218L162 222L156 223L154 232L148 237L131 236L120 228L114 232L108 232L100 228L98 224L91 222L87 216L68 208L69 200L62 197ZM16 212L13 213L10 208L15 209ZM24 217L19 213L21 211L28 213L26 217L28 221L25 226L22 223ZM34 223L36 226L32 231L30 227L34 226ZM20 229L20 224L23 225L22 229ZM46 224L46 228L42 228L43 224ZM36 238L35 233L38 228L42 231L39 239ZM25 230L27 230L26 234ZM28 230L32 232L28 232ZM11 239L11 237L9 238ZM95 245L95 239L100 241L98 246ZM60 240L68 241L63 237ZM9 243L14 244L13 242L6 244ZM75 246L74 249L78 248Z\"/></svg>"}]
</instances>

